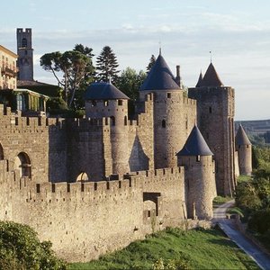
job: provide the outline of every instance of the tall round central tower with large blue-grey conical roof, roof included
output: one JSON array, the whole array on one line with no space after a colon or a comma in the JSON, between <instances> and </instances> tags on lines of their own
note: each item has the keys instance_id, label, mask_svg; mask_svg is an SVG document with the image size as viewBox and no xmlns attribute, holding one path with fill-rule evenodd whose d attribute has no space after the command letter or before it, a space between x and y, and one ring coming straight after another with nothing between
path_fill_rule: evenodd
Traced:
<instances>
[{"instance_id":1,"label":"tall round central tower with large blue-grey conical roof, roof included","mask_svg":"<svg viewBox=\"0 0 270 270\"><path fill-rule=\"evenodd\" d=\"M184 146L185 139L196 121L195 102L184 97L175 76L161 54L139 90L143 102L154 93L154 159L155 167L176 166L175 153Z\"/></svg>"}]
</instances>

